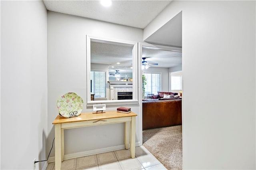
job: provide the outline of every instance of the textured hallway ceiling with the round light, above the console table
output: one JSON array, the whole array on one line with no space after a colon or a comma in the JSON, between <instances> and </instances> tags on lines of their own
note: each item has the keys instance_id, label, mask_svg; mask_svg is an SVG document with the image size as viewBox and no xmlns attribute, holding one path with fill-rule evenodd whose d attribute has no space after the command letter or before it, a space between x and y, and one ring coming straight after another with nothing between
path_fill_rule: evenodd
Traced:
<instances>
[{"instance_id":1,"label":"textured hallway ceiling with the round light, above the console table","mask_svg":"<svg viewBox=\"0 0 256 170\"><path fill-rule=\"evenodd\" d=\"M98 0L44 0L47 10L145 28L171 0L114 0L106 8Z\"/></svg>"}]
</instances>

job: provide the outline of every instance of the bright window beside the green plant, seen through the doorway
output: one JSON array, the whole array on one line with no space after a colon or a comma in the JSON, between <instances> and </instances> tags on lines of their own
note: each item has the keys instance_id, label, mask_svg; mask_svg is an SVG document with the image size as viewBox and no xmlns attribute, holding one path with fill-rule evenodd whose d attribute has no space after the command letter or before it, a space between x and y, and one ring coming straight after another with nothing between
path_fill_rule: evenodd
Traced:
<instances>
[{"instance_id":1,"label":"bright window beside the green plant, seen through the doorway","mask_svg":"<svg viewBox=\"0 0 256 170\"><path fill-rule=\"evenodd\" d=\"M157 92L161 89L161 73L144 73L146 78L146 85L144 96L148 94L158 94Z\"/></svg>"}]
</instances>

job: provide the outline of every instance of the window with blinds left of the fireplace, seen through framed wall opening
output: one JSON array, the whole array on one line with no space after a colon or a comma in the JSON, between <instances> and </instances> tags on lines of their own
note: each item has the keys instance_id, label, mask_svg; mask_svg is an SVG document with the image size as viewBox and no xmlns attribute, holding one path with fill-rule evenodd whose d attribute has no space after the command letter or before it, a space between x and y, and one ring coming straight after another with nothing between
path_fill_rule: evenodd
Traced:
<instances>
[{"instance_id":1,"label":"window with blinds left of the fireplace, seen through framed wall opening","mask_svg":"<svg viewBox=\"0 0 256 170\"><path fill-rule=\"evenodd\" d=\"M94 98L106 97L106 71L91 71L91 93Z\"/></svg>"}]
</instances>

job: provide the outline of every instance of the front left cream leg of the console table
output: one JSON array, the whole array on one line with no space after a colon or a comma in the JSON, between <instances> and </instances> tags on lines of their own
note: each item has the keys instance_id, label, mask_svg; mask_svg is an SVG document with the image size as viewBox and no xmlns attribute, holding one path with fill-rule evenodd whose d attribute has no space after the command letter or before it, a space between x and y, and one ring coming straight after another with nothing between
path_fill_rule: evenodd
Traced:
<instances>
[{"instance_id":1,"label":"front left cream leg of the console table","mask_svg":"<svg viewBox=\"0 0 256 170\"><path fill-rule=\"evenodd\" d=\"M55 124L55 169L61 167L61 124Z\"/></svg>"}]
</instances>

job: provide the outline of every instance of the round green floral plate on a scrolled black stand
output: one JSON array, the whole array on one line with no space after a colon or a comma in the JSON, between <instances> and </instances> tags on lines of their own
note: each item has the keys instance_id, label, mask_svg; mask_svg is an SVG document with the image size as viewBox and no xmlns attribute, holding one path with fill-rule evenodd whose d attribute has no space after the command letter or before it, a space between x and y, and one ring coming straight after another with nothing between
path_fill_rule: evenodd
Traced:
<instances>
[{"instance_id":1,"label":"round green floral plate on a scrolled black stand","mask_svg":"<svg viewBox=\"0 0 256 170\"><path fill-rule=\"evenodd\" d=\"M57 101L57 107L60 115L68 118L80 115L83 105L83 99L73 92L66 93Z\"/></svg>"}]
</instances>

